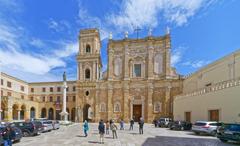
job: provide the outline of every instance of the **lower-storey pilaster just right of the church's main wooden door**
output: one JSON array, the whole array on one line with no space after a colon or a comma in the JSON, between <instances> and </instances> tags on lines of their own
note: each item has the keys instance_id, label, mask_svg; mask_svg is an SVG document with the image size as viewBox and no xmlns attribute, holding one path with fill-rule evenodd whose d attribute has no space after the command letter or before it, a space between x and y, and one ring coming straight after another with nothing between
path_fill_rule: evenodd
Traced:
<instances>
[{"instance_id":1,"label":"lower-storey pilaster just right of the church's main wooden door","mask_svg":"<svg viewBox=\"0 0 240 146\"><path fill-rule=\"evenodd\" d=\"M148 97L147 97L147 109L148 109L148 115L147 120L148 122L152 122L153 119L153 104L152 104L152 96L153 96L153 84L148 83Z\"/></svg>"}]
</instances>

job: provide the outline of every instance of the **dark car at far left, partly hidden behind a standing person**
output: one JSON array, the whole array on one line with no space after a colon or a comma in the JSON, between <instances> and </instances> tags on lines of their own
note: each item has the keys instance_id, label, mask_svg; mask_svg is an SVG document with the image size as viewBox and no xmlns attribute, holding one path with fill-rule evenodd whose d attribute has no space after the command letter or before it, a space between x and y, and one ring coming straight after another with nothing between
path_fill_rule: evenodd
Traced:
<instances>
[{"instance_id":1,"label":"dark car at far left, partly hidden behind a standing person","mask_svg":"<svg viewBox=\"0 0 240 146\"><path fill-rule=\"evenodd\" d=\"M12 129L15 132L14 138L13 138L13 142L19 142L21 140L21 138L23 137L22 131L15 127L15 126L11 126ZM4 131L6 130L6 127L0 127L0 143L3 144L3 134Z\"/></svg>"}]
</instances>

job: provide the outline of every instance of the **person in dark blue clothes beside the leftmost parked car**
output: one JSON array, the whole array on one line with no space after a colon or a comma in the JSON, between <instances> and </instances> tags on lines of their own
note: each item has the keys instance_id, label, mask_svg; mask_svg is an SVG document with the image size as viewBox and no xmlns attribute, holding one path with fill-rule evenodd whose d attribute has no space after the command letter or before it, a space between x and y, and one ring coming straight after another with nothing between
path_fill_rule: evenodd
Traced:
<instances>
[{"instance_id":1,"label":"person in dark blue clothes beside the leftmost parked car","mask_svg":"<svg viewBox=\"0 0 240 146\"><path fill-rule=\"evenodd\" d=\"M14 130L10 126L7 126L6 130L3 132L4 146L12 146L12 140L14 137L15 137Z\"/></svg>"}]
</instances>

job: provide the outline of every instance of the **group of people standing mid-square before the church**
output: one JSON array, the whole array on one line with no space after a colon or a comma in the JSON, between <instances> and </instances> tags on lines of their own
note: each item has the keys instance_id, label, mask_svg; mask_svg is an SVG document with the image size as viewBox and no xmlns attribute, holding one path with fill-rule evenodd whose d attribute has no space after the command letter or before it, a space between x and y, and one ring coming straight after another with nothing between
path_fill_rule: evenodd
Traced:
<instances>
[{"instance_id":1,"label":"group of people standing mid-square before the church","mask_svg":"<svg viewBox=\"0 0 240 146\"><path fill-rule=\"evenodd\" d=\"M139 124L139 134L143 134L143 125L144 125L143 118L140 118L138 124ZM133 125L134 125L134 120L131 119L129 130L133 130ZM89 130L89 125L88 125L88 122L85 120L84 124L83 124L83 131L84 131L85 137L88 136L88 130ZM98 124L98 131L99 131L99 135L100 135L100 143L101 144L104 143L104 134L109 135L110 130L112 131L113 139L117 139L118 138L118 135L117 135L118 127L115 124L114 120L111 119L109 121L106 121L105 123L103 120L100 120L100 122ZM124 130L124 121L123 120L120 121L120 130Z\"/></svg>"}]
</instances>

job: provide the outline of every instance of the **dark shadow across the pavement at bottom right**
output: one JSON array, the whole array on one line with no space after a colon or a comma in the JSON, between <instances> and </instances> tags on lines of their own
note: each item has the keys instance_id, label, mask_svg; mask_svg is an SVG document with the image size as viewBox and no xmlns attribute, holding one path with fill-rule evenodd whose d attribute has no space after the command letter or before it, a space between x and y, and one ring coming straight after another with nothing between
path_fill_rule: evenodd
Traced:
<instances>
[{"instance_id":1,"label":"dark shadow across the pavement at bottom right","mask_svg":"<svg viewBox=\"0 0 240 146\"><path fill-rule=\"evenodd\" d=\"M234 144L222 143L218 139L185 138L156 136L148 138L142 146L233 146Z\"/></svg>"}]
</instances>

